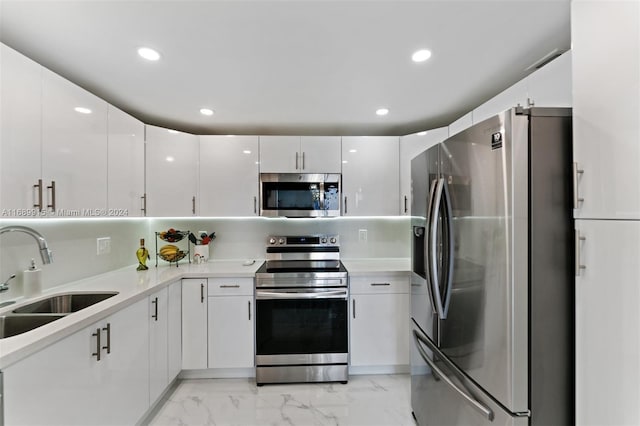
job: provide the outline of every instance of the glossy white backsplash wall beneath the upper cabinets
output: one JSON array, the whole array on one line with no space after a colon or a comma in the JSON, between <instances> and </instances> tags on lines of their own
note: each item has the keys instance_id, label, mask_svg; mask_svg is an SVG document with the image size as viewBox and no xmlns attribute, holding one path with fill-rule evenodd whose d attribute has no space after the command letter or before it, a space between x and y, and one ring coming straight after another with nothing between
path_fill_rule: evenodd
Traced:
<instances>
[{"instance_id":1,"label":"glossy white backsplash wall beneath the upper cabinets","mask_svg":"<svg viewBox=\"0 0 640 426\"><path fill-rule=\"evenodd\" d=\"M24 233L0 236L0 280L11 274L10 290L0 300L22 295L22 272L31 259L43 272L43 288L101 274L137 261L135 251L144 238L155 265L155 232L175 228L193 233L215 232L210 259L262 259L269 235L331 233L340 235L344 259L403 258L410 256L410 219L408 217L340 217L329 219L276 218L118 218L118 219L9 219L0 227L28 226L40 232L53 252L54 262L42 265L37 245ZM363 241L360 230L366 230ZM109 237L110 253L97 254L97 239ZM164 242L158 242L158 247ZM159 261L159 264L166 262Z\"/></svg>"}]
</instances>

